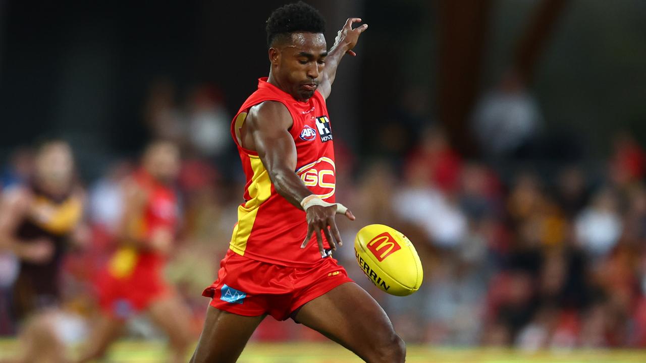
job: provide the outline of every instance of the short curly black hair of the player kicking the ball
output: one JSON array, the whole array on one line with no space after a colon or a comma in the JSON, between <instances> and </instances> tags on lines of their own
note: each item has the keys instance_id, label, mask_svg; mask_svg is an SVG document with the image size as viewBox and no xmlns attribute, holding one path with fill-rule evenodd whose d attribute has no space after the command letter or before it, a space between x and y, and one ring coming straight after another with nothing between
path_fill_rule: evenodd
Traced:
<instances>
[{"instance_id":1,"label":"short curly black hair of the player kicking the ball","mask_svg":"<svg viewBox=\"0 0 646 363\"><path fill-rule=\"evenodd\" d=\"M317 9L302 1L281 6L267 19L267 47L276 37L293 32L325 33L325 19Z\"/></svg>"}]
</instances>

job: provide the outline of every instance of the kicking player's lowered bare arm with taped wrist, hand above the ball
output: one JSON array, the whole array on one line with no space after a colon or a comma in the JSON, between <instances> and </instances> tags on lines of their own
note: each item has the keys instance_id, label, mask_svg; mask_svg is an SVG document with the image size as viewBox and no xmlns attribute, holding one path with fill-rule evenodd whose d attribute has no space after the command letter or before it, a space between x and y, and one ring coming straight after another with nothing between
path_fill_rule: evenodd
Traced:
<instances>
[{"instance_id":1,"label":"kicking player's lowered bare arm with taped wrist, hand above the ball","mask_svg":"<svg viewBox=\"0 0 646 363\"><path fill-rule=\"evenodd\" d=\"M260 103L249 110L241 130L242 146L258 152L276 192L295 207L303 209L302 200L311 196L312 192L295 172L297 152L294 140L288 131L291 125L291 115L282 103L276 101ZM337 249L337 244L343 244L335 223L335 214L337 214L337 205L312 205L306 209L308 225L306 241L314 233L322 256L325 252L321 231L333 250ZM346 211L345 215L350 220L355 218L350 211Z\"/></svg>"}]
</instances>

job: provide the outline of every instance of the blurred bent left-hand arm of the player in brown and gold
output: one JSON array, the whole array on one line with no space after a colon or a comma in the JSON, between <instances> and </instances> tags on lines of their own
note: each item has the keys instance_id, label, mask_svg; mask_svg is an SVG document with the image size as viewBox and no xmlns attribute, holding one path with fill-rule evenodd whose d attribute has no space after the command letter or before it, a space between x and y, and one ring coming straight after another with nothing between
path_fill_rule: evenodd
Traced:
<instances>
[{"instance_id":1,"label":"blurred bent left-hand arm of the player in brown and gold","mask_svg":"<svg viewBox=\"0 0 646 363\"><path fill-rule=\"evenodd\" d=\"M5 192L0 202L0 251L11 251L28 262L47 262L54 245L47 238L25 242L16 238L16 230L29 213L32 195L24 188Z\"/></svg>"}]
</instances>

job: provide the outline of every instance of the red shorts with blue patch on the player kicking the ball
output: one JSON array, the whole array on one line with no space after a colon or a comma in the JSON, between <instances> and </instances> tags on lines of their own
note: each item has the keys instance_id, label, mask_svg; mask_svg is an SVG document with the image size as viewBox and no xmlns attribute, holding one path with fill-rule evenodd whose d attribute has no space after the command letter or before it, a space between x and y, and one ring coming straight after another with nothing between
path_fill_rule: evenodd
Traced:
<instances>
[{"instance_id":1,"label":"red shorts with blue patch on the player kicking the ball","mask_svg":"<svg viewBox=\"0 0 646 363\"><path fill-rule=\"evenodd\" d=\"M202 295L213 298L211 306L229 313L269 314L286 320L299 307L346 282L352 282L351 278L331 257L312 267L287 267L229 250L220 262L218 280Z\"/></svg>"}]
</instances>

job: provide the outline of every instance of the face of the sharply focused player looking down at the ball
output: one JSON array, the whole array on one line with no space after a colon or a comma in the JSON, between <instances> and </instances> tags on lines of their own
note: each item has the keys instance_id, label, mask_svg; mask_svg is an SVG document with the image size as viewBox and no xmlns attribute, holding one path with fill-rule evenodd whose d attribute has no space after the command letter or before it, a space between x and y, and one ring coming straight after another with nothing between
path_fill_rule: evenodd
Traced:
<instances>
[{"instance_id":1,"label":"face of the sharply focused player looking down at the ball","mask_svg":"<svg viewBox=\"0 0 646 363\"><path fill-rule=\"evenodd\" d=\"M291 42L279 48L275 76L294 98L309 99L318 87L327 55L323 34L293 33Z\"/></svg>"}]
</instances>

